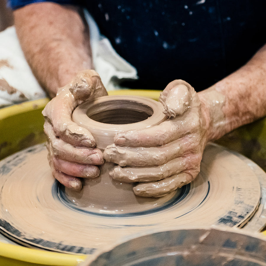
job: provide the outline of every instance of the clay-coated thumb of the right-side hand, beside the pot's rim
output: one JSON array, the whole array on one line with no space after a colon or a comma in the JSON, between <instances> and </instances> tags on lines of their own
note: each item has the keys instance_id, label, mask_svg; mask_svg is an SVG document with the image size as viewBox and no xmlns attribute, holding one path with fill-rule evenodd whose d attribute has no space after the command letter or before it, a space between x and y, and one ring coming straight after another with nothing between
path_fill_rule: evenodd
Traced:
<instances>
[{"instance_id":1,"label":"clay-coated thumb of the right-side hand, beside the pot's rim","mask_svg":"<svg viewBox=\"0 0 266 266\"><path fill-rule=\"evenodd\" d=\"M193 87L183 80L170 82L160 95L163 113L169 117L183 114L190 106Z\"/></svg>"}]
</instances>

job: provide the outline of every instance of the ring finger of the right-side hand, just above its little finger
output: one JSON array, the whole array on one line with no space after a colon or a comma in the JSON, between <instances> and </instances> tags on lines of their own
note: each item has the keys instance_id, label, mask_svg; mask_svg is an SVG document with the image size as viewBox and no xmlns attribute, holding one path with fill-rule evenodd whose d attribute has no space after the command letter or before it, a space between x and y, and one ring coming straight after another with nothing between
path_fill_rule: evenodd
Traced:
<instances>
[{"instance_id":1,"label":"ring finger of the right-side hand, just above its little finger","mask_svg":"<svg viewBox=\"0 0 266 266\"><path fill-rule=\"evenodd\" d=\"M124 183L150 182L165 179L180 172L197 175L200 171L200 160L198 155L189 155L175 158L161 166L154 167L121 167L115 166L110 171L110 176Z\"/></svg>"}]
</instances>

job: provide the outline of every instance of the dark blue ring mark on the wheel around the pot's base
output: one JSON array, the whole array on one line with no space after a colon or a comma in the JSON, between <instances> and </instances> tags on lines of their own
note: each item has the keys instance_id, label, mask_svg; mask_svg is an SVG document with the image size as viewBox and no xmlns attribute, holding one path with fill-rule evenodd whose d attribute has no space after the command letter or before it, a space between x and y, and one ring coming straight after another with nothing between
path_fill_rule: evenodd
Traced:
<instances>
[{"instance_id":1,"label":"dark blue ring mark on the wheel around the pot's base","mask_svg":"<svg viewBox=\"0 0 266 266\"><path fill-rule=\"evenodd\" d=\"M102 216L102 217L133 217L133 216L136 217L137 215L147 215L147 214L151 214L151 213L157 213L159 211L166 210L166 209L168 209L170 207L173 207L177 203L179 203L182 200L184 200L184 198L188 195L189 190L190 190L190 184L182 186L181 187L181 191L180 192L176 192L176 194L172 197L172 199L168 200L167 202L165 202L165 204L163 206L160 206L160 207L157 207L157 208L153 208L153 209L150 209L150 210L141 211L141 212L119 213L119 214L115 214L115 213L114 214L113 213L112 214L111 213L96 213L96 212L92 212L92 211L79 209L76 205L73 205L72 202L66 197L66 195L64 194L64 186L61 185L58 181L56 181L53 184L52 195L53 195L53 198L55 200L59 200L60 202L62 202L68 208L70 208L70 209L72 209L74 211L80 212L80 213L85 213L85 214L88 214L88 215L95 215L95 216Z\"/></svg>"}]
</instances>

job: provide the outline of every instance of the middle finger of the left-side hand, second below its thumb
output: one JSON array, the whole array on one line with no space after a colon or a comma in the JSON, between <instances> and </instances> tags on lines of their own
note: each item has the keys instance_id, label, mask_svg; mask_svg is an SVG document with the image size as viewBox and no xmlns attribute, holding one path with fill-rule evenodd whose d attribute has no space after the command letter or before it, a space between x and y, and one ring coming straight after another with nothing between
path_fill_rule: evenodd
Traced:
<instances>
[{"instance_id":1,"label":"middle finger of the left-side hand, second below its thumb","mask_svg":"<svg viewBox=\"0 0 266 266\"><path fill-rule=\"evenodd\" d=\"M53 153L53 155L73 163L85 165L103 164L103 154L99 149L77 147L61 140L55 136L52 125L49 123L46 123L44 130L49 139L48 151Z\"/></svg>"}]
</instances>

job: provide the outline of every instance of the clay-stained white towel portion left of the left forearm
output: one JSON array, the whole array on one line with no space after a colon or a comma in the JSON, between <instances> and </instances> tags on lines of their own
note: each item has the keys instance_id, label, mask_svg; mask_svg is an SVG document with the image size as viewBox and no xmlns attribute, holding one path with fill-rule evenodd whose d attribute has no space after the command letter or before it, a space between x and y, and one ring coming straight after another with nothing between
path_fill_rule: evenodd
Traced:
<instances>
[{"instance_id":1,"label":"clay-stained white towel portion left of the left forearm","mask_svg":"<svg viewBox=\"0 0 266 266\"><path fill-rule=\"evenodd\" d=\"M23 55L14 27L0 33L0 107L46 97Z\"/></svg>"}]
</instances>

